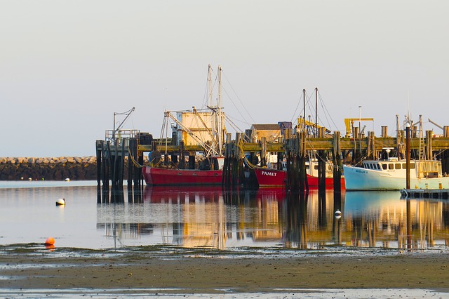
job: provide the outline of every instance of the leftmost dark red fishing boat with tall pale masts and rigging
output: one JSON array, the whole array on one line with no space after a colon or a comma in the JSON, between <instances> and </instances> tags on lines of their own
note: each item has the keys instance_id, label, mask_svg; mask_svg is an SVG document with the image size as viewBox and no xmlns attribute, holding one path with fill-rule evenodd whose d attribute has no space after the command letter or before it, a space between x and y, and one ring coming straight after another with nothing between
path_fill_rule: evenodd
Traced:
<instances>
[{"instance_id":1,"label":"leftmost dark red fishing boat with tall pale masts and rigging","mask_svg":"<svg viewBox=\"0 0 449 299\"><path fill-rule=\"evenodd\" d=\"M168 136L159 139L156 148L163 149L174 142L180 146L200 145L203 152L196 152L196 157L185 163L183 152L150 153L149 166L142 168L142 175L147 185L221 185L222 167L224 162L223 140L226 133L225 114L221 107L221 67L218 67L218 98L213 105L212 69L208 67L208 85L210 103L202 111L193 107L192 110L169 112L164 114L163 129L166 133L168 126L172 128ZM175 115L173 115L175 114ZM171 124L169 124L171 122ZM165 143L163 143L165 142ZM172 161L173 157L175 160ZM194 161L193 161L194 160Z\"/></svg>"}]
</instances>

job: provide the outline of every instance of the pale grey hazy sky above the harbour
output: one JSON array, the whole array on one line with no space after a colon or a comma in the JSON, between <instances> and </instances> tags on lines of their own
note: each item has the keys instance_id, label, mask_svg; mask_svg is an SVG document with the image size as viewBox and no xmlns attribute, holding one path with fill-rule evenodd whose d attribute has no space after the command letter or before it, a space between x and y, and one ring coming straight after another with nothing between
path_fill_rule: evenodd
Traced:
<instances>
[{"instance_id":1,"label":"pale grey hazy sky above the harbour","mask_svg":"<svg viewBox=\"0 0 449 299\"><path fill-rule=\"evenodd\" d=\"M86 157L123 128L158 138L202 107L208 65L244 131L344 118L395 135L396 114L449 125L449 1L0 0L0 157ZM311 106L309 107L309 102ZM116 124L122 119L116 117ZM232 131L232 130L229 130Z\"/></svg>"}]
</instances>

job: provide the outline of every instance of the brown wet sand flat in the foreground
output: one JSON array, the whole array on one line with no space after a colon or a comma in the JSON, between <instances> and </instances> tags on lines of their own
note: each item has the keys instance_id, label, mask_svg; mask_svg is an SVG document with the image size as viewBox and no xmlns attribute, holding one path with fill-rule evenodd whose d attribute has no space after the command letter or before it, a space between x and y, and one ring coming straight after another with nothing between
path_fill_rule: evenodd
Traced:
<instances>
[{"instance_id":1,"label":"brown wet sand flat in the foreground","mask_svg":"<svg viewBox=\"0 0 449 299\"><path fill-rule=\"evenodd\" d=\"M279 288L449 291L449 255L212 255L149 251L1 251L0 288L133 289L148 293L257 293ZM179 289L177 291L176 289ZM126 289L130 289L126 291ZM186 289L188 291L186 291Z\"/></svg>"}]
</instances>

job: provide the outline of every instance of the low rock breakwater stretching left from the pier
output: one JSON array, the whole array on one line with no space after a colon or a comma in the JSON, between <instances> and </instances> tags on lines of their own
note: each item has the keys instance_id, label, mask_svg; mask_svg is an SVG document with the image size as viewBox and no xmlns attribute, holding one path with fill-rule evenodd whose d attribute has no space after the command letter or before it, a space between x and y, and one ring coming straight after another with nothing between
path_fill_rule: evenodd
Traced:
<instances>
[{"instance_id":1,"label":"low rock breakwater stretching left from the pier","mask_svg":"<svg viewBox=\"0 0 449 299\"><path fill-rule=\"evenodd\" d=\"M0 158L0 180L96 180L96 157Z\"/></svg>"}]
</instances>

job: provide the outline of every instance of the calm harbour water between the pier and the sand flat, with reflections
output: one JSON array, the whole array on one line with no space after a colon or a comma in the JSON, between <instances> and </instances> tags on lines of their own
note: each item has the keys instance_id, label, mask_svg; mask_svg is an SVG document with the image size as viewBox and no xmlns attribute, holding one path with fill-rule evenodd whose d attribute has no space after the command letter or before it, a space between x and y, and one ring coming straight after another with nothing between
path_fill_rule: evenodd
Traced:
<instances>
[{"instance_id":1,"label":"calm harbour water between the pier and the sand flat, with reflections","mask_svg":"<svg viewBox=\"0 0 449 299\"><path fill-rule=\"evenodd\" d=\"M399 192L346 192L337 201L333 190L325 199L312 190L300 200L282 188L145 187L140 203L124 197L122 204L97 204L95 181L0 182L0 244L53 237L56 247L79 248L448 249L448 202L407 202ZM60 198L66 206L55 206Z\"/></svg>"}]
</instances>

